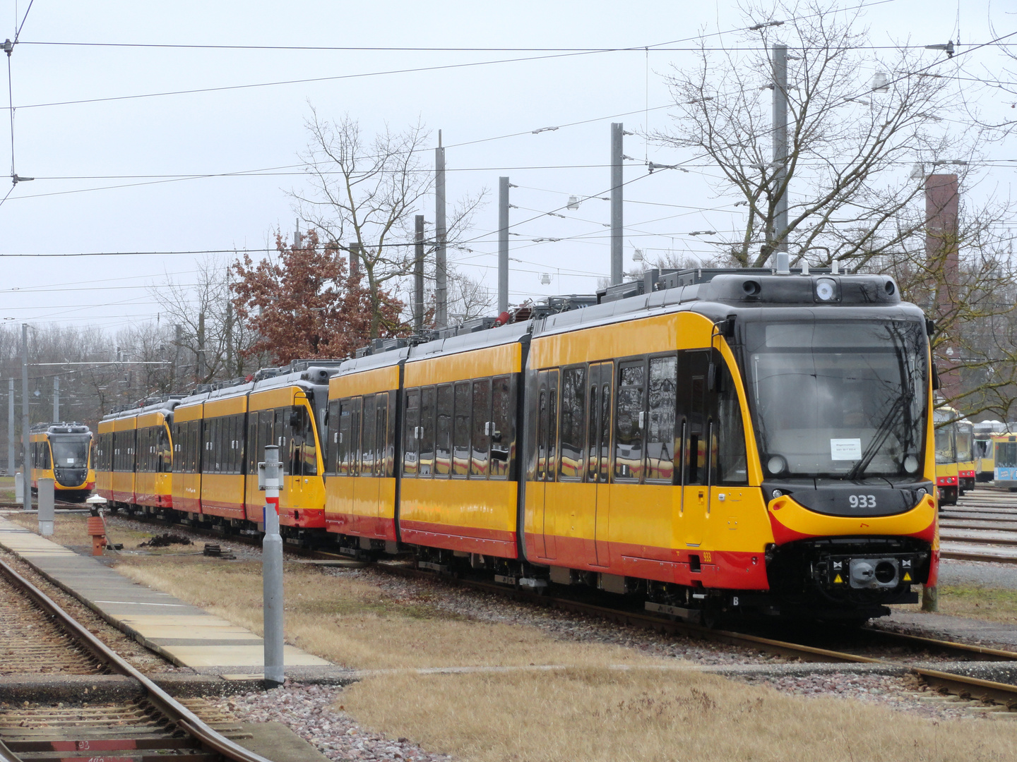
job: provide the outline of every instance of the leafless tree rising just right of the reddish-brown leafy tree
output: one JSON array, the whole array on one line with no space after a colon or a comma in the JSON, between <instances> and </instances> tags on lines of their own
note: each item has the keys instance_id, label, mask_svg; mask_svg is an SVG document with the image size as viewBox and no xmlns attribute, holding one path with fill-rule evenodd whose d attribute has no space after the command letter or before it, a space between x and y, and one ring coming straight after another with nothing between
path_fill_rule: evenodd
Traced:
<instances>
[{"instance_id":1,"label":"leafless tree rising just right of the reddish-brown leafy tree","mask_svg":"<svg viewBox=\"0 0 1017 762\"><path fill-rule=\"evenodd\" d=\"M383 327L383 292L398 292L398 281L413 271L413 215L433 189L433 172L422 161L429 133L423 125L403 132L385 129L365 140L360 124L349 116L333 122L311 108L310 133L301 156L310 188L293 191L298 213L324 237L324 243L352 253L363 269L371 299L371 336ZM447 224L453 247L469 227L483 198L465 198ZM425 256L433 252L433 242ZM455 280L455 278L450 278ZM394 283L393 281L397 281Z\"/></svg>"}]
</instances>

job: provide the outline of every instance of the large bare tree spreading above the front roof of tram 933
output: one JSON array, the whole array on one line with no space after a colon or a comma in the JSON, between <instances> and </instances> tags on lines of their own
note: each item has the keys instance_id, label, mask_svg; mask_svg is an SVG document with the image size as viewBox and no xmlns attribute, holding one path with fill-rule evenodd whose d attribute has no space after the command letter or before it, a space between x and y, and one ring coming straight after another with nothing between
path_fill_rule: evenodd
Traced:
<instances>
[{"instance_id":1,"label":"large bare tree spreading above the front roof of tram 933","mask_svg":"<svg viewBox=\"0 0 1017 762\"><path fill-rule=\"evenodd\" d=\"M963 167L976 156L975 136L937 121L956 110L950 82L917 75L929 61L909 49L889 57L863 51L860 11L834 13L818 0L743 10L753 28L744 47L716 52L704 44L698 67L675 68L674 126L656 135L706 155L720 170L716 191L741 196L744 225L718 234L721 250L742 266L763 266L786 243L792 261L852 269L897 252L923 225L902 224L921 193L908 177L912 164ZM770 54L778 42L788 57L787 158L779 167ZM787 225L778 230L782 198Z\"/></svg>"}]
</instances>

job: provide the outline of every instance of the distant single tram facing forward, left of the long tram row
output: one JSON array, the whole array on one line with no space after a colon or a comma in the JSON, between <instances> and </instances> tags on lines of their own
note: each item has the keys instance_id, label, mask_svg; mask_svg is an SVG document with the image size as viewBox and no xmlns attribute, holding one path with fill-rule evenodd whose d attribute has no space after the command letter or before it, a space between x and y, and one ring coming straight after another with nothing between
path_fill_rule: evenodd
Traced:
<instances>
[{"instance_id":1,"label":"distant single tram facing forward, left of the long tram row","mask_svg":"<svg viewBox=\"0 0 1017 762\"><path fill-rule=\"evenodd\" d=\"M84 424L36 424L28 432L32 489L52 479L57 500L81 501L96 487L92 431Z\"/></svg>"}]
</instances>

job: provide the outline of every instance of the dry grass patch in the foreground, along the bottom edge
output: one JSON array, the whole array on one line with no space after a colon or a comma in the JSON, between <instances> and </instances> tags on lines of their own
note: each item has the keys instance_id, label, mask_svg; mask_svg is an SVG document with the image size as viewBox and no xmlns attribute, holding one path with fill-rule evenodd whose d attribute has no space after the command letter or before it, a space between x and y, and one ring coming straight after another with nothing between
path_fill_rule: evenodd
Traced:
<instances>
[{"instance_id":1,"label":"dry grass patch in the foreground, along the bottom edge","mask_svg":"<svg viewBox=\"0 0 1017 762\"><path fill-rule=\"evenodd\" d=\"M1017 759L1009 723L937 724L695 673L392 675L344 708L388 736L471 762L989 762Z\"/></svg>"}]
</instances>

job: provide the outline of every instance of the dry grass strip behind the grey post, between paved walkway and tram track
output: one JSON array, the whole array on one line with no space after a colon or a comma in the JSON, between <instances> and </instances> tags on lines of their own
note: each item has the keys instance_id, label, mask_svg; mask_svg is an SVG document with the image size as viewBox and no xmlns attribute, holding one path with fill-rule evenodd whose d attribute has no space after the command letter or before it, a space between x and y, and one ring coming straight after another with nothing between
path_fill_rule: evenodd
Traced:
<instances>
[{"instance_id":1,"label":"dry grass strip behind the grey post, between paved walkway and tram track","mask_svg":"<svg viewBox=\"0 0 1017 762\"><path fill-rule=\"evenodd\" d=\"M117 569L261 633L256 563L127 557ZM472 622L302 564L286 565L285 597L288 642L358 669L661 663L618 646L559 642L534 627Z\"/></svg>"}]
</instances>

